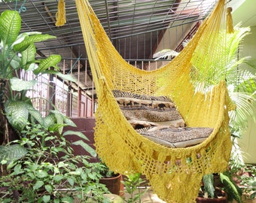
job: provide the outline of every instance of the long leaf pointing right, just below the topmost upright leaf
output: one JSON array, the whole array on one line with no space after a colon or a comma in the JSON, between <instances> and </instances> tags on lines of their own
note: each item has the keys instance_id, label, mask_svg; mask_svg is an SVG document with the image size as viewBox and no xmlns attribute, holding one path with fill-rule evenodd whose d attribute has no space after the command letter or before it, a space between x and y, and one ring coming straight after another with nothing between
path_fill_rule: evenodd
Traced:
<instances>
[{"instance_id":1,"label":"long leaf pointing right, just below the topmost upright leaf","mask_svg":"<svg viewBox=\"0 0 256 203\"><path fill-rule=\"evenodd\" d=\"M52 39L52 38L56 38L56 37L48 34L46 35L37 34L37 35L26 36L23 41L14 45L14 50L22 52L23 50L26 50L26 48L29 47L30 44L34 44L35 42L40 42L40 41L46 41L47 39Z\"/></svg>"}]
</instances>

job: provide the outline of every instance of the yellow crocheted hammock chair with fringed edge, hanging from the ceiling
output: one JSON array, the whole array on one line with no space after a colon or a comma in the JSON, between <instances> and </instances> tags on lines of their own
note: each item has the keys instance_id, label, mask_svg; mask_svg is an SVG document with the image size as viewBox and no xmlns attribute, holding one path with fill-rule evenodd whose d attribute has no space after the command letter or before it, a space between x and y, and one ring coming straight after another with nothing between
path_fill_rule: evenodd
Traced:
<instances>
[{"instance_id":1,"label":"yellow crocheted hammock chair with fringed edge, hanging from the ceiling","mask_svg":"<svg viewBox=\"0 0 256 203\"><path fill-rule=\"evenodd\" d=\"M157 70L144 71L133 67L117 53L88 0L76 0L98 97L96 151L115 172L144 174L154 192L167 202L195 201L203 175L225 171L230 159L228 111L233 103L226 83L218 82L205 91L198 89L203 83L200 77L216 65L227 65L227 59L221 57L227 51L225 35L229 35L227 27L222 26L230 21L225 5L224 0L219 0L175 59ZM232 26L230 28L232 32ZM200 144L165 147L142 136L130 125L113 90L166 95L175 103L187 127L208 127L213 131Z\"/></svg>"}]
</instances>

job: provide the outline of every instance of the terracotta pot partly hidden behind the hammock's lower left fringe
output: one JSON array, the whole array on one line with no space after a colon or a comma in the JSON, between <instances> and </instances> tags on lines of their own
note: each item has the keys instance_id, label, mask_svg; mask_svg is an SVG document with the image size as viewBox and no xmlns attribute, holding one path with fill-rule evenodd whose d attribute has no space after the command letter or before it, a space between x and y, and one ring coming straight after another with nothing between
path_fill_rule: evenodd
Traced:
<instances>
[{"instance_id":1,"label":"terracotta pot partly hidden behind the hammock's lower left fringe","mask_svg":"<svg viewBox=\"0 0 256 203\"><path fill-rule=\"evenodd\" d=\"M115 177L104 177L100 178L99 183L104 184L107 186L108 190L115 195L121 195L120 190L121 189L121 183L120 180L122 180L122 175L117 174Z\"/></svg>"}]
</instances>

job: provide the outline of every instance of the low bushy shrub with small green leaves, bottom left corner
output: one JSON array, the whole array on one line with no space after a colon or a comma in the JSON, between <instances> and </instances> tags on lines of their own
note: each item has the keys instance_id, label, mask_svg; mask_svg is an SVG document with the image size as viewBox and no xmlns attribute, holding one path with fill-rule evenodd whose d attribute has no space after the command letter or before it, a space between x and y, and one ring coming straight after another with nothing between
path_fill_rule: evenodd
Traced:
<instances>
[{"instance_id":1,"label":"low bushy shrub with small green leaves, bottom left corner","mask_svg":"<svg viewBox=\"0 0 256 203\"><path fill-rule=\"evenodd\" d=\"M1 202L73 202L87 198L104 200L108 189L101 183L90 156L74 156L62 135L42 126L28 125L23 138L14 143L26 146L21 159L8 163L8 174L0 177ZM13 143L12 143L13 144Z\"/></svg>"}]
</instances>

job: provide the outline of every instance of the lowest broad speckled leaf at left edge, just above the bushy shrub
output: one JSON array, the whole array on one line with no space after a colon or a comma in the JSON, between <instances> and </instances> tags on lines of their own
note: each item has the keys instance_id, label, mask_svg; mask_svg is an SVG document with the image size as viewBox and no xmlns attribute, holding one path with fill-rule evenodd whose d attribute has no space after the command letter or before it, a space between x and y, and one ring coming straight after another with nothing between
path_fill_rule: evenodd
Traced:
<instances>
[{"instance_id":1,"label":"lowest broad speckled leaf at left edge, just above the bushy shrub","mask_svg":"<svg viewBox=\"0 0 256 203\"><path fill-rule=\"evenodd\" d=\"M0 162L8 164L16 159L20 159L26 155L28 151L20 144L14 144L10 146L0 145Z\"/></svg>"}]
</instances>

